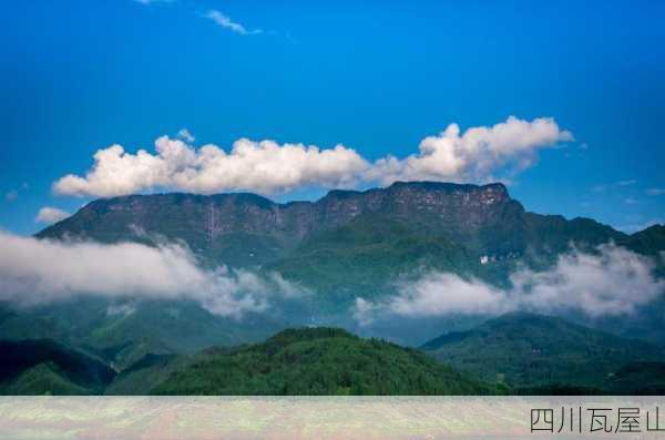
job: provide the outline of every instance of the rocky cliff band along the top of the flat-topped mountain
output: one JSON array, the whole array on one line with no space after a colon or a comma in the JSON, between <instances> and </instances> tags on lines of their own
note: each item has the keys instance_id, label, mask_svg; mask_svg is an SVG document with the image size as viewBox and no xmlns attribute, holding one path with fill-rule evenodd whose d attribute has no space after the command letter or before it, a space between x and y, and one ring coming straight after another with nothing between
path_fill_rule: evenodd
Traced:
<instances>
[{"instance_id":1,"label":"rocky cliff band along the top of the flat-topped mountain","mask_svg":"<svg viewBox=\"0 0 665 440\"><path fill-rule=\"evenodd\" d=\"M256 236L289 246L318 231L377 213L409 222L427 217L471 231L508 207L523 211L502 184L400 182L365 192L335 190L316 202L286 204L249 193L130 195L94 201L38 236L115 242L136 239L141 233L160 234L187 239L214 255L217 243L229 236Z\"/></svg>"}]
</instances>

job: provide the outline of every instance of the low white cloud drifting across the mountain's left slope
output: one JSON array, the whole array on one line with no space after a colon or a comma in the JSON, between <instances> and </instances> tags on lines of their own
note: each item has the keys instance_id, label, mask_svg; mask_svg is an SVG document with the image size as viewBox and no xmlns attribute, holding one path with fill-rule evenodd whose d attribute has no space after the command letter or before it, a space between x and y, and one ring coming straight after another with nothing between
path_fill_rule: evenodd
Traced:
<instances>
[{"instance_id":1,"label":"low white cloud drifting across the mountain's left slope","mask_svg":"<svg viewBox=\"0 0 665 440\"><path fill-rule=\"evenodd\" d=\"M269 295L297 287L244 270L202 269L185 247L53 242L0 232L0 300L42 304L84 294L117 299L192 299L213 314L241 317ZM286 287L285 287L286 286ZM287 291L283 291L287 288Z\"/></svg>"}]
</instances>

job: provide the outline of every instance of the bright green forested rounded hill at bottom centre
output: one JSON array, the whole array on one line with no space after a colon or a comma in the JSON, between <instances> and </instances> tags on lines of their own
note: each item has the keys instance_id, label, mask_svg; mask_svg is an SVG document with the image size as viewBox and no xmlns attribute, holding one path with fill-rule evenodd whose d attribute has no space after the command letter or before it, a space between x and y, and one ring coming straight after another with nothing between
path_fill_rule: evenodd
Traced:
<instances>
[{"instance_id":1,"label":"bright green forested rounded hill at bottom centre","mask_svg":"<svg viewBox=\"0 0 665 440\"><path fill-rule=\"evenodd\" d=\"M426 355L335 328L284 330L265 342L213 348L157 395L478 395L491 388Z\"/></svg>"}]
</instances>

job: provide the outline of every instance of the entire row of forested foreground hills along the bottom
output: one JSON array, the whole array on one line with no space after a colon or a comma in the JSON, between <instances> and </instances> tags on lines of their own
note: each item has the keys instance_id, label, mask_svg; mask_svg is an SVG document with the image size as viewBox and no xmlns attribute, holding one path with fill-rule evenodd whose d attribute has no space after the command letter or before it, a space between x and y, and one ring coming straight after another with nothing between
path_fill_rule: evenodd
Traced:
<instances>
[{"instance_id":1,"label":"entire row of forested foreground hills along the bottom","mask_svg":"<svg viewBox=\"0 0 665 440\"><path fill-rule=\"evenodd\" d=\"M1 341L3 395L661 395L659 347L510 314L422 350L342 329L283 330L196 355L147 354L117 374L50 340ZM434 359L434 357L437 359Z\"/></svg>"}]
</instances>

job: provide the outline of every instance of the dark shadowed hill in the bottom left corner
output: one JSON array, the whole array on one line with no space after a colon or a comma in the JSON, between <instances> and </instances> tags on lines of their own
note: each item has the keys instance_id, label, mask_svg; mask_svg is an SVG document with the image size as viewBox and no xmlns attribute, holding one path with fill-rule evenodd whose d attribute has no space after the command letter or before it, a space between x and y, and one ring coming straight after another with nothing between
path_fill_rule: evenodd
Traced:
<instances>
[{"instance_id":1,"label":"dark shadowed hill in the bottom left corner","mask_svg":"<svg viewBox=\"0 0 665 440\"><path fill-rule=\"evenodd\" d=\"M115 371L82 351L49 339L0 340L0 393L101 393Z\"/></svg>"}]
</instances>

